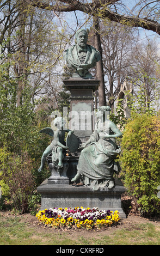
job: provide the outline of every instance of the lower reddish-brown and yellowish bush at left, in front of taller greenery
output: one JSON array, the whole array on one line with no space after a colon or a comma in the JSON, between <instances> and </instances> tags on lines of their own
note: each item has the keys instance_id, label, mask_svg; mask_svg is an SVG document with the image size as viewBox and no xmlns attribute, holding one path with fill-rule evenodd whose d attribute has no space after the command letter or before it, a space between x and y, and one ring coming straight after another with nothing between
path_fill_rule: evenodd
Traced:
<instances>
[{"instance_id":1,"label":"lower reddish-brown and yellowish bush at left, in front of taller greenery","mask_svg":"<svg viewBox=\"0 0 160 256\"><path fill-rule=\"evenodd\" d=\"M28 210L29 196L34 189L33 160L27 153L23 153L20 156L15 153L9 153L4 148L1 148L0 153L3 181L8 186L10 197L16 210L23 214Z\"/></svg>"}]
</instances>

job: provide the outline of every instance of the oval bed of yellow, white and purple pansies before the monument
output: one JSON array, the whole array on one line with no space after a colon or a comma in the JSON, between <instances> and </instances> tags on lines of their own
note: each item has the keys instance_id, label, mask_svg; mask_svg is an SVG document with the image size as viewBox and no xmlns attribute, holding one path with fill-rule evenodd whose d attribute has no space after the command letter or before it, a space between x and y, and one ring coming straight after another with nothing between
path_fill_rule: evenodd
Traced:
<instances>
[{"instance_id":1,"label":"oval bed of yellow, white and purple pansies before the monument","mask_svg":"<svg viewBox=\"0 0 160 256\"><path fill-rule=\"evenodd\" d=\"M102 227L110 227L119 222L119 212L110 210L99 210L99 208L53 208L45 209L39 211L36 214L38 220L52 228L61 228L61 227L77 227L77 228L86 228L100 229Z\"/></svg>"}]
</instances>

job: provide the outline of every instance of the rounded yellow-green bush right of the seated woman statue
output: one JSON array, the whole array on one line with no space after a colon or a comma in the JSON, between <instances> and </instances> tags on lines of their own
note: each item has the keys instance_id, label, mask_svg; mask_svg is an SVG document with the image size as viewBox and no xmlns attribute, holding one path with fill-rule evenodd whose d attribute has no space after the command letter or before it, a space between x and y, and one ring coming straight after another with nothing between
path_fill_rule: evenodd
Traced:
<instances>
[{"instance_id":1,"label":"rounded yellow-green bush right of the seated woman statue","mask_svg":"<svg viewBox=\"0 0 160 256\"><path fill-rule=\"evenodd\" d=\"M125 186L137 199L141 214L160 212L157 187L160 184L159 116L134 114L125 127L120 156Z\"/></svg>"}]
</instances>

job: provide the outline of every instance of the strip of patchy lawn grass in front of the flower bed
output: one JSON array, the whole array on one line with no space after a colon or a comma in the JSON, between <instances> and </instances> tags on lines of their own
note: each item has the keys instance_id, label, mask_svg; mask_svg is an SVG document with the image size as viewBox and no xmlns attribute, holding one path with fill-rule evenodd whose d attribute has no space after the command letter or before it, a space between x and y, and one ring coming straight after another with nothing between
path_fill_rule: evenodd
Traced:
<instances>
[{"instance_id":1,"label":"strip of patchy lawn grass in front of the flower bed","mask_svg":"<svg viewBox=\"0 0 160 256\"><path fill-rule=\"evenodd\" d=\"M74 236L67 231L43 232L31 224L20 222L20 217L4 217L0 212L0 245L160 245L160 230L153 223L137 223L130 229L110 229L110 233L102 235L89 231L84 237L83 232ZM103 233L104 234L104 233Z\"/></svg>"}]
</instances>

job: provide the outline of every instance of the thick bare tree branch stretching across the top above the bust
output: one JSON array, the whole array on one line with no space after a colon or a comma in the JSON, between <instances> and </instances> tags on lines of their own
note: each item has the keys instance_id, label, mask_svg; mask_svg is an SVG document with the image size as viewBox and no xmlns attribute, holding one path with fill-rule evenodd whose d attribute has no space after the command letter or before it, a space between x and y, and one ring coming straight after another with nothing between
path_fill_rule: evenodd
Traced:
<instances>
[{"instance_id":1,"label":"thick bare tree branch stretching across the top above the bust","mask_svg":"<svg viewBox=\"0 0 160 256\"><path fill-rule=\"evenodd\" d=\"M119 10L122 4L119 0L101 0L97 1L94 0L93 2L90 1L76 1L76 0L59 0L59 1L53 1L53 4L47 4L46 2L40 1L40 0L24 0L25 2L32 4L33 7L38 7L42 9L48 9L48 10L54 10L59 12L69 12L69 11L82 11L83 13L91 14L93 16L99 15L103 19L109 19L110 21L115 21L118 23L129 23L132 27L141 27L147 30L151 30L153 32L156 32L157 34L160 34L160 23L159 20L150 19L152 17L152 13L148 14L146 12L146 15L144 17L140 17L141 12L149 7L151 5L152 12L154 13L154 9L157 8L157 4L160 5L159 0L157 1L151 1L146 4L145 1L139 1L138 4L135 5L135 8L138 7L139 11L138 14L133 13L134 8L132 11L130 11L129 14L121 13ZM152 6L152 4L156 3L155 7ZM116 5L115 5L116 4ZM143 4L142 7L140 7L140 4ZM125 5L123 5L125 8ZM159 6L160 8L160 6ZM126 8L127 10L127 8ZM119 11L119 13L118 13ZM150 14L150 15L149 15ZM143 13L144 15L144 13ZM158 15L158 14L157 14Z\"/></svg>"}]
</instances>

